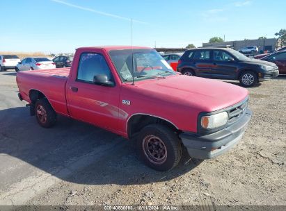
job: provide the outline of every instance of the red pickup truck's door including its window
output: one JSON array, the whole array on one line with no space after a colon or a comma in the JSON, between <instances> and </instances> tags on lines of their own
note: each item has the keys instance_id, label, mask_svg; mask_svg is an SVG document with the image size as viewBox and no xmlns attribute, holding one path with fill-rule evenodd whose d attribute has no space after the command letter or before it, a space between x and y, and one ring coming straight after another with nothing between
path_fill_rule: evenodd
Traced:
<instances>
[{"instance_id":1,"label":"red pickup truck's door including its window","mask_svg":"<svg viewBox=\"0 0 286 211\"><path fill-rule=\"evenodd\" d=\"M81 53L77 74L67 82L67 108L74 119L116 131L120 85L97 85L93 81L98 75L114 83L102 53Z\"/></svg>"}]
</instances>

